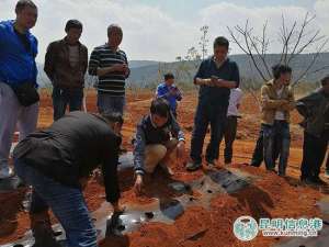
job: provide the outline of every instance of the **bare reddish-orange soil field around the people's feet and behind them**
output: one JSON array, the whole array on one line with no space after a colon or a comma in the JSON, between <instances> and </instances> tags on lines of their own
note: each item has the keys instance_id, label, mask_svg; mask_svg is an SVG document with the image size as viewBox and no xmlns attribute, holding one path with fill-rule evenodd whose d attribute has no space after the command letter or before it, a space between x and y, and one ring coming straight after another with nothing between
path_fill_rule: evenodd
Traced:
<instances>
[{"instance_id":1,"label":"bare reddish-orange soil field around the people's feet and behind them","mask_svg":"<svg viewBox=\"0 0 329 247\"><path fill-rule=\"evenodd\" d=\"M127 108L125 124L123 127L124 146L132 150L131 138L136 123L141 115L147 114L152 93L149 91L127 92ZM97 112L97 96L89 91L87 109ZM186 92L179 105L179 122L186 134L186 151L190 149L193 116L197 103L195 91ZM254 142L260 127L259 109L251 96L246 96L241 104L242 119L239 122L238 136L235 143L232 167L257 175L262 179L232 194L220 194L213 199L209 209L202 206L189 207L174 224L148 223L138 231L123 237L111 237L100 243L102 247L264 247L277 243L282 238L258 236L249 243L239 242L232 234L232 223L241 215L259 217L297 217L320 216L316 201L324 197L317 189L304 187L299 183L299 166L302 160L303 132L297 123L299 115L292 115L292 147L288 161L288 178L280 178L261 168L246 166L250 162ZM44 128L53 121L52 98L46 91L42 93L38 127ZM206 142L208 137L206 138ZM223 148L222 148L223 149ZM220 149L220 150L222 150ZM218 168L223 166L223 156L218 161ZM190 181L201 177L203 170L190 173L184 170L183 164L172 164L175 175L174 180ZM158 197L170 197L167 189L169 178L159 175L156 180L146 183L144 195L137 198L134 193L134 175L131 171L121 172L122 188L121 203L147 203L152 200L155 193ZM156 186L155 186L156 183ZM29 214L23 211L22 200L26 189L16 192L0 194L0 245L12 242L22 236L30 228ZM104 202L104 189L92 179L86 191L86 199L90 211L100 207ZM110 213L110 212L109 212ZM55 222L55 218L53 217Z\"/></svg>"}]
</instances>

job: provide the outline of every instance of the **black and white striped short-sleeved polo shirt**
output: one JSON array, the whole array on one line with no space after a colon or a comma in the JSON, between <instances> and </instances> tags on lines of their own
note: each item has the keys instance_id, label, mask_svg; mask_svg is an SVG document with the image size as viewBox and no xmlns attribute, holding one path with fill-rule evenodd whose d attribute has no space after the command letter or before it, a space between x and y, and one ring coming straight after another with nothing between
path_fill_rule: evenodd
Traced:
<instances>
[{"instance_id":1,"label":"black and white striped short-sleeved polo shirt","mask_svg":"<svg viewBox=\"0 0 329 247\"><path fill-rule=\"evenodd\" d=\"M107 44L95 47L89 60L89 74L97 76L98 68L111 67L114 64L128 64L125 52L118 49L113 52ZM123 72L111 72L99 77L99 82L95 85L98 91L105 92L110 96L125 94L125 79Z\"/></svg>"}]
</instances>

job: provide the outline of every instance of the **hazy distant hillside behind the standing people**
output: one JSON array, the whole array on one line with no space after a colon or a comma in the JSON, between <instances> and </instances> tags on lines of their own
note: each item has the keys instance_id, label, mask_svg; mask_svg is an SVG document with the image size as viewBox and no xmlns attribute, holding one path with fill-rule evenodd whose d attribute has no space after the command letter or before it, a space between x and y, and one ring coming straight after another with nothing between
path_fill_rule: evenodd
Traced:
<instances>
[{"instance_id":1,"label":"hazy distant hillside behind the standing people","mask_svg":"<svg viewBox=\"0 0 329 247\"><path fill-rule=\"evenodd\" d=\"M302 71L307 68L314 54L303 54L296 58L295 63L292 64L294 78L299 77ZM238 64L241 78L245 80L262 81L247 55L231 55L230 59ZM272 66L279 63L280 55L268 55L266 60L268 64ZM329 66L329 53L321 54L309 71L315 71L324 66ZM49 86L49 80L43 71L43 65L38 64L37 67L38 82L41 87ZM192 78L196 72L197 64L195 61L162 63L155 60L131 60L129 67L132 72L127 80L128 85L132 87L149 87L161 81L163 74L167 71L173 72L179 83L192 83ZM262 70L265 72L264 68L262 68ZM329 74L329 69L321 70L319 72L309 72L302 80L316 82L319 81L326 74ZM93 79L91 77L88 77L88 81L92 80Z\"/></svg>"}]
</instances>

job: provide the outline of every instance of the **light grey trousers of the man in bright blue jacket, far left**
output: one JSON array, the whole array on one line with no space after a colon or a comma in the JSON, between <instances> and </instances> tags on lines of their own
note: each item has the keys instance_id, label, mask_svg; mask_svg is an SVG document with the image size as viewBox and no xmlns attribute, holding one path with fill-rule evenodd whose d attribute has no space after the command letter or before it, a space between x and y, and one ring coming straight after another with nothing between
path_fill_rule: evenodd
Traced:
<instances>
[{"instance_id":1,"label":"light grey trousers of the man in bright blue jacket, far left","mask_svg":"<svg viewBox=\"0 0 329 247\"><path fill-rule=\"evenodd\" d=\"M20 141L36 128L38 103L23 106L13 90L0 82L0 169L8 166L15 127L20 132Z\"/></svg>"}]
</instances>

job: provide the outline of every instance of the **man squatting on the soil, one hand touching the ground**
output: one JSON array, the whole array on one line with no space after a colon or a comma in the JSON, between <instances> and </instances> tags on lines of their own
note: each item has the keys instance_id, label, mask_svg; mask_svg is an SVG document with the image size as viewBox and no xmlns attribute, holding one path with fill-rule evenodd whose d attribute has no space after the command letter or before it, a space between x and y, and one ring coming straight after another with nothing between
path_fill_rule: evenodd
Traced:
<instances>
[{"instance_id":1,"label":"man squatting on the soil, one hand touching the ground","mask_svg":"<svg viewBox=\"0 0 329 247\"><path fill-rule=\"evenodd\" d=\"M172 175L168 161L185 156L184 134L164 99L154 100L150 114L144 116L137 125L134 156L137 193L141 192L145 173L152 173L159 165L167 173Z\"/></svg>"}]
</instances>

